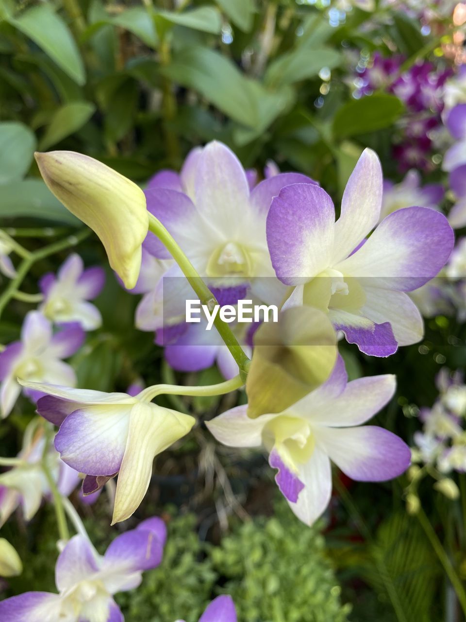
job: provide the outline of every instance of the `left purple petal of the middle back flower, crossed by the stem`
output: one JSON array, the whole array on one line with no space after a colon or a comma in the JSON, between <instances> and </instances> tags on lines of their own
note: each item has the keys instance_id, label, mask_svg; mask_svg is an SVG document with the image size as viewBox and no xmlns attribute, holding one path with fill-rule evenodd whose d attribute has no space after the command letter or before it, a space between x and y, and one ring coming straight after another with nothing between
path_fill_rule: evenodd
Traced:
<instances>
[{"instance_id":1,"label":"left purple petal of the middle back flower, crossed by the stem","mask_svg":"<svg viewBox=\"0 0 466 622\"><path fill-rule=\"evenodd\" d=\"M196 208L189 197L165 188L148 188L145 190L145 197L148 211L167 227L179 244L186 236L196 236L200 226L199 218L196 217ZM158 259L171 258L162 242L150 231L142 243L142 248Z\"/></svg>"}]
</instances>

